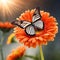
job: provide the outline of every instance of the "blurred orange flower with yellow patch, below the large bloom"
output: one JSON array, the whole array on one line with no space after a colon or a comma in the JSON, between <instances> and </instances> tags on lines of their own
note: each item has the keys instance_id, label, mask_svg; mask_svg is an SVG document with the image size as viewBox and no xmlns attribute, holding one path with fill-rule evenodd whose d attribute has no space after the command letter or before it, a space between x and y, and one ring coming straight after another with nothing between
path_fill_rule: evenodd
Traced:
<instances>
[{"instance_id":1,"label":"blurred orange flower with yellow patch, below the large bloom","mask_svg":"<svg viewBox=\"0 0 60 60\"><path fill-rule=\"evenodd\" d=\"M8 56L6 60L17 60L24 55L25 47L21 46L14 49Z\"/></svg>"}]
</instances>

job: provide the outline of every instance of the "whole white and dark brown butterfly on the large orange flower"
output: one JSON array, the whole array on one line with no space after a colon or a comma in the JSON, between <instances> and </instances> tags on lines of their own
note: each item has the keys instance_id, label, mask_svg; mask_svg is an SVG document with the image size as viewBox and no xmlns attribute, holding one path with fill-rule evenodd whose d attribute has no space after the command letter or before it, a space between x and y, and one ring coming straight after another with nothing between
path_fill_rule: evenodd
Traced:
<instances>
[{"instance_id":1,"label":"whole white and dark brown butterfly on the large orange flower","mask_svg":"<svg viewBox=\"0 0 60 60\"><path fill-rule=\"evenodd\" d=\"M16 20L12 24L25 29L27 35L34 36L36 31L44 29L44 22L41 20L40 9L36 8L32 17L32 22L26 20Z\"/></svg>"}]
</instances>

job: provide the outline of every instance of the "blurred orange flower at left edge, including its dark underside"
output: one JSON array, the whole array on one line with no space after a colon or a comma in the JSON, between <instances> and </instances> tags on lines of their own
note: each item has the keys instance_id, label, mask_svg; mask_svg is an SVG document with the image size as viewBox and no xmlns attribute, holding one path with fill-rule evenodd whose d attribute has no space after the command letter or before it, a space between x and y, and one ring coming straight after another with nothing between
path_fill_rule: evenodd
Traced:
<instances>
[{"instance_id":1,"label":"blurred orange flower at left edge, including its dark underside","mask_svg":"<svg viewBox=\"0 0 60 60\"><path fill-rule=\"evenodd\" d=\"M10 29L14 28L14 25L11 24L10 22L6 21L6 22L0 22L0 29L3 32L8 32L10 31Z\"/></svg>"}]
</instances>

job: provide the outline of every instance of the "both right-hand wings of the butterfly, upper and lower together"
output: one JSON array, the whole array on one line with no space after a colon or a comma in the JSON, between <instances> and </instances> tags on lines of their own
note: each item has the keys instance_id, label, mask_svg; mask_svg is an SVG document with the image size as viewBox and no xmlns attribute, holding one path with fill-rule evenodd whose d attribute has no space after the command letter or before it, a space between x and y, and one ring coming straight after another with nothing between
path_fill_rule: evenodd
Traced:
<instances>
[{"instance_id":1,"label":"both right-hand wings of the butterfly, upper and lower together","mask_svg":"<svg viewBox=\"0 0 60 60\"><path fill-rule=\"evenodd\" d=\"M41 14L40 14L40 9L39 7L36 8L34 14L33 14L33 18L32 18L32 24L34 25L35 28L37 29L43 29L44 28L44 23L41 20Z\"/></svg>"}]
</instances>

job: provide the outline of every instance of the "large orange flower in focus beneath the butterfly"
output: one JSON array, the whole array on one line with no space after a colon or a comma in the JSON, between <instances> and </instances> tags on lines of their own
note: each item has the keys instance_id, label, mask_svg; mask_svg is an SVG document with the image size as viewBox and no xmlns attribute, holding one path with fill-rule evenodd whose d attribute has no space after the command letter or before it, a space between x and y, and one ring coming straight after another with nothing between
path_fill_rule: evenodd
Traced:
<instances>
[{"instance_id":1,"label":"large orange flower in focus beneath the butterfly","mask_svg":"<svg viewBox=\"0 0 60 60\"><path fill-rule=\"evenodd\" d=\"M32 22L35 10L28 10L21 14L18 20L27 20ZM56 18L50 16L50 13L40 11L41 20L44 22L44 30L36 32L35 36L28 36L24 29L15 27L14 33L19 42L24 43L28 47L36 47L37 45L46 45L48 41L53 41L55 34L58 32Z\"/></svg>"}]
</instances>

